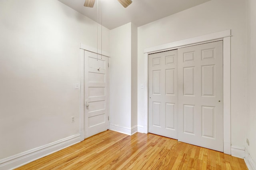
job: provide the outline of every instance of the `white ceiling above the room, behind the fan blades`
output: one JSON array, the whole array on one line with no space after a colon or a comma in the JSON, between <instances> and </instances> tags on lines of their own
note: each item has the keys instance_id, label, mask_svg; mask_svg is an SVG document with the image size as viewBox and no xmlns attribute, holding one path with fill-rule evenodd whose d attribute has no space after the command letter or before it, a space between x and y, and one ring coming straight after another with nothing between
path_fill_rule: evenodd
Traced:
<instances>
[{"instance_id":1,"label":"white ceiling above the room, behind the fan blades","mask_svg":"<svg viewBox=\"0 0 256 170\"><path fill-rule=\"evenodd\" d=\"M70 8L97 22L97 0L94 8L84 7L85 0L59 0ZM129 22L136 26L148 24L160 18L192 8L210 0L132 0L124 8L118 0L102 0L102 25L108 29L122 26ZM101 23L99 0L98 22Z\"/></svg>"}]
</instances>

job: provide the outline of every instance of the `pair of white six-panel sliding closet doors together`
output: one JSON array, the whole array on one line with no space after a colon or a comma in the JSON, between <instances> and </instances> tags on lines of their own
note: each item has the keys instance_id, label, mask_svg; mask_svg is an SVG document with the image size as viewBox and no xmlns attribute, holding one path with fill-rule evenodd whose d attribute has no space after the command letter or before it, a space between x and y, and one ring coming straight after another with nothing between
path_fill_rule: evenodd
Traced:
<instances>
[{"instance_id":1,"label":"pair of white six-panel sliding closet doors together","mask_svg":"<svg viewBox=\"0 0 256 170\"><path fill-rule=\"evenodd\" d=\"M150 133L223 152L222 41L150 54L148 97Z\"/></svg>"}]
</instances>

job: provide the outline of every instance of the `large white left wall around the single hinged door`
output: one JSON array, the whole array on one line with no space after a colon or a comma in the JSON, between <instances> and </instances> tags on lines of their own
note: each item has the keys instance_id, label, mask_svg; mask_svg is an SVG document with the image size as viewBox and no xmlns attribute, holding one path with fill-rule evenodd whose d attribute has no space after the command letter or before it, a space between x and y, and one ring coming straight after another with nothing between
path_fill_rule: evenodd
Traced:
<instances>
[{"instance_id":1,"label":"large white left wall around the single hinged door","mask_svg":"<svg viewBox=\"0 0 256 170\"><path fill-rule=\"evenodd\" d=\"M0 1L0 160L79 133L79 46L96 35L57 0Z\"/></svg>"}]
</instances>

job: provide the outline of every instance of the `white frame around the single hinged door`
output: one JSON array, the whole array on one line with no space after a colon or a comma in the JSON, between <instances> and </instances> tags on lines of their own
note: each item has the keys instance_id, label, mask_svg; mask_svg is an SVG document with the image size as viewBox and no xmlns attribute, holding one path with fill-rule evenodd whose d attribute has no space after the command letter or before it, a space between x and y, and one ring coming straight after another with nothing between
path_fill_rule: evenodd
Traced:
<instances>
[{"instance_id":1,"label":"white frame around the single hinged door","mask_svg":"<svg viewBox=\"0 0 256 170\"><path fill-rule=\"evenodd\" d=\"M93 48L90 46L87 46L85 44L80 43L80 141L84 140L84 50L93 52L95 54L98 54L98 57L100 58L101 50L97 48ZM110 53L102 51L102 56L108 57L108 64L110 63ZM108 74L109 74L109 68L108 68ZM108 92L109 92L109 76L108 76ZM108 105L109 105L109 94L108 94ZM108 107L108 117L109 117L109 107ZM108 120L108 129L109 129L109 120Z\"/></svg>"}]
</instances>

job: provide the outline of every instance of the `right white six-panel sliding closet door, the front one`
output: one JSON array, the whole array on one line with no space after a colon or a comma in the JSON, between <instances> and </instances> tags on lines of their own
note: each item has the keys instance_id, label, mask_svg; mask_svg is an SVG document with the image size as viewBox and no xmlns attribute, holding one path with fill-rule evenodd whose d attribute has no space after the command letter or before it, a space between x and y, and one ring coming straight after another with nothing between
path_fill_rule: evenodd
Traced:
<instances>
[{"instance_id":1,"label":"right white six-panel sliding closet door, the front one","mask_svg":"<svg viewBox=\"0 0 256 170\"><path fill-rule=\"evenodd\" d=\"M178 140L223 152L222 41L178 49Z\"/></svg>"}]
</instances>

